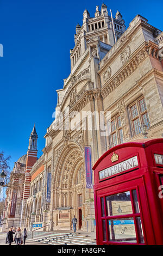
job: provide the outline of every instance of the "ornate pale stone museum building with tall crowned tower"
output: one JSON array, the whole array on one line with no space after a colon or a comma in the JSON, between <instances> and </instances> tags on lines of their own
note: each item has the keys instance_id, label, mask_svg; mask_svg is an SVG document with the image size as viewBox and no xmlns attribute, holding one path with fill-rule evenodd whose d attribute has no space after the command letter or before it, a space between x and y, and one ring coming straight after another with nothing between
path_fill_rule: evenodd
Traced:
<instances>
[{"instance_id":1,"label":"ornate pale stone museum building with tall crowned tower","mask_svg":"<svg viewBox=\"0 0 163 256\"><path fill-rule=\"evenodd\" d=\"M76 215L78 230L95 231L93 164L115 145L143 138L142 124L148 138L163 136L162 47L163 32L141 15L127 28L105 4L95 17L85 9L43 154L37 159L34 126L27 154L12 170L17 186L7 190L3 230L70 230ZM105 131L98 129L100 113Z\"/></svg>"}]
</instances>

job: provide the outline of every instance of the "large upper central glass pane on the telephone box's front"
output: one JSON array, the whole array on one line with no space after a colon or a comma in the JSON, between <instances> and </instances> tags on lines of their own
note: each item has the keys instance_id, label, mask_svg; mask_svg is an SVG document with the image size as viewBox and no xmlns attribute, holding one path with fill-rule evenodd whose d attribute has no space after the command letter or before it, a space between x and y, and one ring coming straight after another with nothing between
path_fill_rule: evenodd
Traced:
<instances>
[{"instance_id":1,"label":"large upper central glass pane on the telephone box's front","mask_svg":"<svg viewBox=\"0 0 163 256\"><path fill-rule=\"evenodd\" d=\"M116 216L124 214L133 214L129 191L113 194L111 196L106 197L107 216Z\"/></svg>"}]
</instances>

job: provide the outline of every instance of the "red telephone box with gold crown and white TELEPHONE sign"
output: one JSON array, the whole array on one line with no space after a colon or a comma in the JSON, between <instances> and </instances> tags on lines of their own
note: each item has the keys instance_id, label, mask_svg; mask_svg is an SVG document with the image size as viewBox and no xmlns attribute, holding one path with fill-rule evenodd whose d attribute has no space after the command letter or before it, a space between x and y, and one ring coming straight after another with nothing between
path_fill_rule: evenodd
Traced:
<instances>
[{"instance_id":1,"label":"red telephone box with gold crown and white TELEPHONE sign","mask_svg":"<svg viewBox=\"0 0 163 256\"><path fill-rule=\"evenodd\" d=\"M97 245L163 245L163 139L117 145L93 170Z\"/></svg>"}]
</instances>

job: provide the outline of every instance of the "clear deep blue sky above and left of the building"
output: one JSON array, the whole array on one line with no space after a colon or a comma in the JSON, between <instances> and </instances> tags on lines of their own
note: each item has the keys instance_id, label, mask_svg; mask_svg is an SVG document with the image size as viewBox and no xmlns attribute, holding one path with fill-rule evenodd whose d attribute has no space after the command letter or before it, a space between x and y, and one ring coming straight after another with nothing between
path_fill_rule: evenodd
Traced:
<instances>
[{"instance_id":1,"label":"clear deep blue sky above and left of the building","mask_svg":"<svg viewBox=\"0 0 163 256\"><path fill-rule=\"evenodd\" d=\"M47 127L54 120L56 89L70 74L70 48L74 47L77 23L87 9L94 17L103 1L0 0L0 150L11 155L10 166L26 154L30 132L36 123L38 156L45 147ZM161 30L161 0L104 1L115 16L126 21L137 14ZM133 5L135 4L135 5Z\"/></svg>"}]
</instances>

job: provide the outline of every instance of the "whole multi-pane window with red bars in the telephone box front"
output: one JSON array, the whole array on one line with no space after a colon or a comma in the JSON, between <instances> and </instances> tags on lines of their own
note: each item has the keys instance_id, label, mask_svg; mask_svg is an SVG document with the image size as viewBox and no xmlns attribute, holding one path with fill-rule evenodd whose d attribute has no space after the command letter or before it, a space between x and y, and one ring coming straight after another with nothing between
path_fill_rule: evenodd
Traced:
<instances>
[{"instance_id":1,"label":"whole multi-pane window with red bars in the telephone box front","mask_svg":"<svg viewBox=\"0 0 163 256\"><path fill-rule=\"evenodd\" d=\"M145 242L136 189L102 197L101 208L103 241Z\"/></svg>"}]
</instances>

